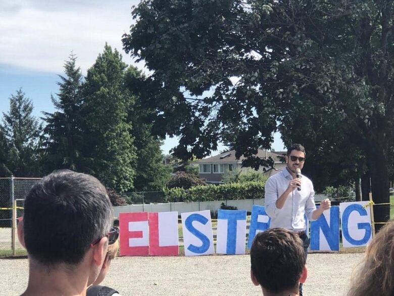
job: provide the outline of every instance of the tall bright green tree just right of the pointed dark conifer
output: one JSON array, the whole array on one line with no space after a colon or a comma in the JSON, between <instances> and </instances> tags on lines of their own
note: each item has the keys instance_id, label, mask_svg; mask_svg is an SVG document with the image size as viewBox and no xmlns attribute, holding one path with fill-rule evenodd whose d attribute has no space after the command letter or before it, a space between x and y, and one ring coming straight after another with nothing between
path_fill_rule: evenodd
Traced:
<instances>
[{"instance_id":1,"label":"tall bright green tree just right of the pointed dark conifer","mask_svg":"<svg viewBox=\"0 0 394 296\"><path fill-rule=\"evenodd\" d=\"M126 66L119 52L106 44L87 71L80 111L86 172L121 192L133 188L136 158L127 121L133 102L124 86Z\"/></svg>"}]
</instances>

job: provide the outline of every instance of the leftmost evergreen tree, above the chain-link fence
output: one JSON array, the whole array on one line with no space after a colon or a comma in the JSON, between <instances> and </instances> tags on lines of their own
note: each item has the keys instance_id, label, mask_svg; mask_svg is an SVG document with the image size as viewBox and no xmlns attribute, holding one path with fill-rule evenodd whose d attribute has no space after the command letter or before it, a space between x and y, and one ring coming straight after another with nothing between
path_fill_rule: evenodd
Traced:
<instances>
[{"instance_id":1,"label":"leftmost evergreen tree, above the chain-link fence","mask_svg":"<svg viewBox=\"0 0 394 296\"><path fill-rule=\"evenodd\" d=\"M4 135L3 151L7 150L7 163L3 168L16 177L36 177L39 173L38 148L41 125L32 115L33 103L22 89L11 95L10 111L3 112L0 130Z\"/></svg>"}]
</instances>

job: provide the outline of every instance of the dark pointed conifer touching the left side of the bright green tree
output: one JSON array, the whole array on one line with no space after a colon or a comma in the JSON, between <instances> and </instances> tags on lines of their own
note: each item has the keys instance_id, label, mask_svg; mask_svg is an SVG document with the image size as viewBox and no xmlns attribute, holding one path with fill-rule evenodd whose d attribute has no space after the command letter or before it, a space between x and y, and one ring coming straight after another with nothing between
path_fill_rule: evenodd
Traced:
<instances>
[{"instance_id":1,"label":"dark pointed conifer touching the left side of the bright green tree","mask_svg":"<svg viewBox=\"0 0 394 296\"><path fill-rule=\"evenodd\" d=\"M54 113L43 112L46 122L44 128L44 161L46 173L59 168L83 171L81 150L83 144L81 131L81 79L82 74L76 67L76 56L71 53L64 64L65 76L59 75L58 98L51 96Z\"/></svg>"}]
</instances>

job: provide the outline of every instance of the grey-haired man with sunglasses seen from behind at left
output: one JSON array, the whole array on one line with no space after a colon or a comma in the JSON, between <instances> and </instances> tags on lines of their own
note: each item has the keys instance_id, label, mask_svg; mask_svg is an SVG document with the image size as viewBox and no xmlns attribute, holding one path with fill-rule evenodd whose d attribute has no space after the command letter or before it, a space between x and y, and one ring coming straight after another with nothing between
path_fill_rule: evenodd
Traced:
<instances>
[{"instance_id":1,"label":"grey-haired man with sunglasses seen from behind at left","mask_svg":"<svg viewBox=\"0 0 394 296\"><path fill-rule=\"evenodd\" d=\"M42 178L27 194L18 224L29 259L22 295L85 295L116 240L111 225L111 202L97 179L67 170Z\"/></svg>"}]
</instances>

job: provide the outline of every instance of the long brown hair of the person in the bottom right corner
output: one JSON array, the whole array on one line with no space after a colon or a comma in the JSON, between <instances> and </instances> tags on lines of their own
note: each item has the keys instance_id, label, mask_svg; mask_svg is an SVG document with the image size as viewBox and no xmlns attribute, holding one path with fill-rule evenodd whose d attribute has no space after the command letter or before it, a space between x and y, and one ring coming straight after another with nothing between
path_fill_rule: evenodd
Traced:
<instances>
[{"instance_id":1,"label":"long brown hair of the person in the bottom right corner","mask_svg":"<svg viewBox=\"0 0 394 296\"><path fill-rule=\"evenodd\" d=\"M352 276L348 296L369 295L394 295L394 220L372 239Z\"/></svg>"}]
</instances>

